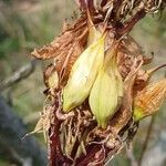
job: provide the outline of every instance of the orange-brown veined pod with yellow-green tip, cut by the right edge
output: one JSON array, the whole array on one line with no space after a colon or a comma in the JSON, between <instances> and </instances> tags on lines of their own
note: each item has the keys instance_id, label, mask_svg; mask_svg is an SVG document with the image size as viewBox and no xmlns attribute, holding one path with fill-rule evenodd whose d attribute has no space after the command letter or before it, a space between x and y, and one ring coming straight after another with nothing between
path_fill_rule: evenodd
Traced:
<instances>
[{"instance_id":1,"label":"orange-brown veined pod with yellow-green tip, cut by the right edge","mask_svg":"<svg viewBox=\"0 0 166 166\"><path fill-rule=\"evenodd\" d=\"M166 79L153 83L137 94L134 101L134 121L155 114L166 97Z\"/></svg>"}]
</instances>

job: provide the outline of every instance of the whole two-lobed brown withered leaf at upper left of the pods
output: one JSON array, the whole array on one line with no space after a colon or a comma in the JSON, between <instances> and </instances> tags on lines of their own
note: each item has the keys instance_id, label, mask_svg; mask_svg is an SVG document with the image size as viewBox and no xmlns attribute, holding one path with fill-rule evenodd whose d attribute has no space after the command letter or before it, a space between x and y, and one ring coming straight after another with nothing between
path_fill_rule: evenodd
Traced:
<instances>
[{"instance_id":1,"label":"whole two-lobed brown withered leaf at upper left of the pods","mask_svg":"<svg viewBox=\"0 0 166 166\"><path fill-rule=\"evenodd\" d=\"M79 19L74 25L69 27L60 37L41 49L31 53L37 59L55 59L55 68L62 85L66 83L71 68L82 53L87 38L86 17Z\"/></svg>"}]
</instances>

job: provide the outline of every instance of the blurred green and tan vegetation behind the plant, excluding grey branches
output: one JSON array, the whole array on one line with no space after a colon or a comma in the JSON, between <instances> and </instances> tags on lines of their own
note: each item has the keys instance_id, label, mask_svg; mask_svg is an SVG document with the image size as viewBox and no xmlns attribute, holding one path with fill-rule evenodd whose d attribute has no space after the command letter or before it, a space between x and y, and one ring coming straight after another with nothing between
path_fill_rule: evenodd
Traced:
<instances>
[{"instance_id":1,"label":"blurred green and tan vegetation behind the plant, excluding grey branches","mask_svg":"<svg viewBox=\"0 0 166 166\"><path fill-rule=\"evenodd\" d=\"M73 0L0 0L0 82L11 76L33 58L30 52L42 44L51 42L61 32L65 19L73 20L77 12ZM166 63L166 11L156 15L148 15L132 31L132 35L143 46L145 54L154 52L153 66ZM38 61L34 72L23 81L2 90L0 93L14 112L20 116L28 131L32 131L39 112L43 108L44 84L42 71L45 63ZM165 76L160 70L153 80ZM155 117L149 144L145 153L143 165L166 165L166 104ZM134 139L134 155L139 157L151 117L143 121ZM46 147L43 137L37 135L42 147ZM1 148L1 147L0 147ZM13 165L7 160L7 154L0 155L0 166ZM155 162L158 160L157 165ZM115 166L129 166L124 151L113 160ZM158 165L159 164L159 165Z\"/></svg>"}]
</instances>

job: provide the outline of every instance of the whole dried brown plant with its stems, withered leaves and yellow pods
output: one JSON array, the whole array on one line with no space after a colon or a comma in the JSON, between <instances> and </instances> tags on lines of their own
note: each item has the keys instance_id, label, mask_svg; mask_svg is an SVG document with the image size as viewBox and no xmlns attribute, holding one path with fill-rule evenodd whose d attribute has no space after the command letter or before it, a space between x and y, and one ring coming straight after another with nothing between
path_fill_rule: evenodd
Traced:
<instances>
[{"instance_id":1,"label":"whole dried brown plant with its stems, withered leaves and yellow pods","mask_svg":"<svg viewBox=\"0 0 166 166\"><path fill-rule=\"evenodd\" d=\"M146 58L128 34L146 13L162 11L166 1L76 2L81 17L75 23L32 52L37 59L53 60L44 72L46 104L33 131L46 135L51 166L104 165L166 96L166 79L148 83L165 65L144 71L153 58Z\"/></svg>"}]
</instances>

